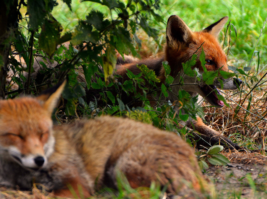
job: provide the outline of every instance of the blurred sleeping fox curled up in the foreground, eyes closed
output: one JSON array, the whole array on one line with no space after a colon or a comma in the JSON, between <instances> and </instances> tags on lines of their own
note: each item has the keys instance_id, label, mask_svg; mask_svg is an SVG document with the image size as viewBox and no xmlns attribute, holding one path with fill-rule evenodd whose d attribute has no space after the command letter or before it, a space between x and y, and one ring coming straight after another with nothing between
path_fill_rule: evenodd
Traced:
<instances>
[{"instance_id":1,"label":"blurred sleeping fox curled up in the foreground, eyes closed","mask_svg":"<svg viewBox=\"0 0 267 199\"><path fill-rule=\"evenodd\" d=\"M213 198L193 148L174 132L107 115L53 125L65 84L37 97L0 100L1 186L31 190L35 184L72 198L71 188L83 198L116 188L123 175L132 188L155 182L178 197Z\"/></svg>"}]
</instances>

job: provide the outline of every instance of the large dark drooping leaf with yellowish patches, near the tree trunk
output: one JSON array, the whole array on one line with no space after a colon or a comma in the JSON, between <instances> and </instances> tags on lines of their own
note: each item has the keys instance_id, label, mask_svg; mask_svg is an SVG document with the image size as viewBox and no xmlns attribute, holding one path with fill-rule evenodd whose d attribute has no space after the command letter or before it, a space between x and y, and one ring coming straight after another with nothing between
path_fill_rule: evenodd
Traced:
<instances>
[{"instance_id":1,"label":"large dark drooping leaf with yellowish patches, near the tree trunk","mask_svg":"<svg viewBox=\"0 0 267 199\"><path fill-rule=\"evenodd\" d=\"M60 23L55 19L45 19L38 42L40 49L46 52L49 56L52 56L56 51L61 30L62 27Z\"/></svg>"}]
</instances>

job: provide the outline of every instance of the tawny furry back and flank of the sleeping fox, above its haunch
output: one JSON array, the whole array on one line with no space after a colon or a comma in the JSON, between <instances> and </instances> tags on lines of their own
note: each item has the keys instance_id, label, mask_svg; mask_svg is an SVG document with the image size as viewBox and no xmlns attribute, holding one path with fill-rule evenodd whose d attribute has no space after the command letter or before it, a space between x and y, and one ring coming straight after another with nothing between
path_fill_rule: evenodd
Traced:
<instances>
[{"instance_id":1,"label":"tawny furry back and flank of the sleeping fox, above its haunch","mask_svg":"<svg viewBox=\"0 0 267 199\"><path fill-rule=\"evenodd\" d=\"M107 169L125 153L129 159L142 157L148 167L164 168L164 164L170 164L164 159L171 159L173 171L166 172L179 174L186 180L194 180L196 173L202 176L195 155L186 142L173 132L161 131L148 124L104 116L57 126L57 132L66 133L72 143L70 146L76 146L92 179L99 182L103 182ZM162 162L155 164L158 159Z\"/></svg>"}]
</instances>

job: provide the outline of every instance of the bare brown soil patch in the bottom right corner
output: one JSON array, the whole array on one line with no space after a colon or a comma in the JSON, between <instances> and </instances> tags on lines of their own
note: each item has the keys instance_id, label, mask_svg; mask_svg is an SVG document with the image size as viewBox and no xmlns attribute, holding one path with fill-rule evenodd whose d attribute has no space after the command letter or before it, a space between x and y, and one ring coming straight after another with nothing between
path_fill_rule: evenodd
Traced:
<instances>
[{"instance_id":1,"label":"bare brown soil patch in the bottom right corner","mask_svg":"<svg viewBox=\"0 0 267 199\"><path fill-rule=\"evenodd\" d=\"M215 184L218 198L267 198L266 156L238 152L224 155L231 163L211 165L205 172Z\"/></svg>"}]
</instances>

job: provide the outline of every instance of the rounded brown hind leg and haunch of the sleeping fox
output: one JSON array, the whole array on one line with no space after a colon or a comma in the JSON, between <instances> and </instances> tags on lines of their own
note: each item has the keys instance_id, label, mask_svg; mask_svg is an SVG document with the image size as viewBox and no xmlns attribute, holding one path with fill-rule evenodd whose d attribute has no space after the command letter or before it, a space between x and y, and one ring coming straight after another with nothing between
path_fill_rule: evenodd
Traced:
<instances>
[{"instance_id":1,"label":"rounded brown hind leg and haunch of the sleeping fox","mask_svg":"<svg viewBox=\"0 0 267 199\"><path fill-rule=\"evenodd\" d=\"M202 188L209 186L203 179L192 149L182 140L175 147L160 142L152 141L152 144L128 148L108 170L113 181L116 183L119 171L132 188L149 187L154 181L161 187L167 186L167 193L187 198L202 195Z\"/></svg>"}]
</instances>

